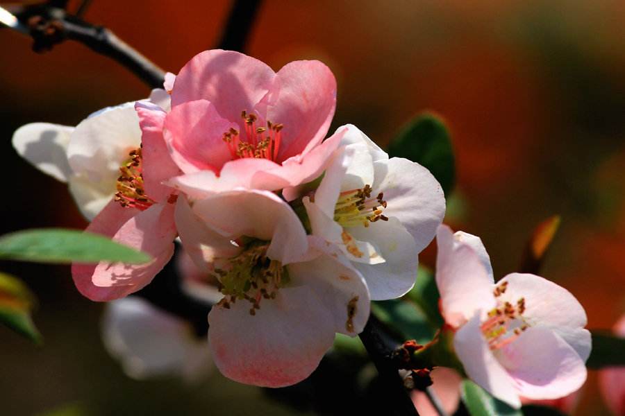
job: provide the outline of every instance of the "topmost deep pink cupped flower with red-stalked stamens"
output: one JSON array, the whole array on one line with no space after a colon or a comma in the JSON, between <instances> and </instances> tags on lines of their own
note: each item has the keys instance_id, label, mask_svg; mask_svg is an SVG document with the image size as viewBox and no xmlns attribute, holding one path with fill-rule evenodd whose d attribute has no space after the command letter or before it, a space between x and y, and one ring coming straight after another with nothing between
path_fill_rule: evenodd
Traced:
<instances>
[{"instance_id":1,"label":"topmost deep pink cupped flower with red-stalked stamens","mask_svg":"<svg viewBox=\"0 0 625 416\"><path fill-rule=\"evenodd\" d=\"M276 191L313 180L342 135L322 143L336 82L318 61L290 62L274 73L241 53L205 51L168 85L172 112L162 115L163 131L185 173L170 183L194 198L235 187Z\"/></svg>"}]
</instances>

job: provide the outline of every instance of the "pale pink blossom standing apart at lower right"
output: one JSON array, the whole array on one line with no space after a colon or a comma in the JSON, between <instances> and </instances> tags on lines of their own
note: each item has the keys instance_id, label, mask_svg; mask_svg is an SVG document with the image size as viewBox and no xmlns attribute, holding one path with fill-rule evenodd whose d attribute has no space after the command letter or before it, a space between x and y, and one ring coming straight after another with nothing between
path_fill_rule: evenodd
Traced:
<instances>
[{"instance_id":1,"label":"pale pink blossom standing apart at lower right","mask_svg":"<svg viewBox=\"0 0 625 416\"><path fill-rule=\"evenodd\" d=\"M469 378L516 408L520 396L556 399L578 390L591 340L575 297L529 274L494 284L488 254L471 234L442 225L437 243L441 311Z\"/></svg>"}]
</instances>

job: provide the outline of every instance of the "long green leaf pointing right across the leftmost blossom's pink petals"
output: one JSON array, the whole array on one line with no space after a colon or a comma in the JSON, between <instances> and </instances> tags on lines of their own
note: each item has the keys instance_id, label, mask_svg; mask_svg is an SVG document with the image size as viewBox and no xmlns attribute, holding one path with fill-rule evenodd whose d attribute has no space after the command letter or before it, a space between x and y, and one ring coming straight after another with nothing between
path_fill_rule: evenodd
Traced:
<instances>
[{"instance_id":1,"label":"long green leaf pointing right across the leftmost blossom's pink petals","mask_svg":"<svg viewBox=\"0 0 625 416\"><path fill-rule=\"evenodd\" d=\"M147 263L151 257L106 236L74 229L27 229L0 237L0 259L39 263Z\"/></svg>"}]
</instances>

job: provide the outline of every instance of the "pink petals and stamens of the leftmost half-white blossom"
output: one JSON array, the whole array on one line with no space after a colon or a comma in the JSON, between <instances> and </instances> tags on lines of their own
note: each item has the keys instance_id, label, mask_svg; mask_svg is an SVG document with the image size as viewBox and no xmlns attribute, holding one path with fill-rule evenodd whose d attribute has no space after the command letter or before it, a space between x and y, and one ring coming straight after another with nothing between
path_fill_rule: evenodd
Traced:
<instances>
[{"instance_id":1,"label":"pink petals and stamens of the leftmost half-white blossom","mask_svg":"<svg viewBox=\"0 0 625 416\"><path fill-rule=\"evenodd\" d=\"M115 198L92 220L86 231L151 254L144 265L100 262L72 265L78 291L91 300L107 301L140 290L153 279L174 253L177 236L174 225L175 190L163 185L180 171L172 162L163 139L165 112L152 111L148 101L134 105L141 128L141 144L126 153L118 167ZM98 152L85 151L83 164L90 164Z\"/></svg>"}]
</instances>

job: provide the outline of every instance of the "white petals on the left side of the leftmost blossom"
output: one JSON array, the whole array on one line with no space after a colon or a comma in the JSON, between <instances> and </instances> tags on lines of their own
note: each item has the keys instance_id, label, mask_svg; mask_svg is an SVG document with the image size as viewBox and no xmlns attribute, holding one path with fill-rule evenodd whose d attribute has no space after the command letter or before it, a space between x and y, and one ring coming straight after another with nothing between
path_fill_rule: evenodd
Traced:
<instances>
[{"instance_id":1,"label":"white petals on the left side of the leftmost blossom","mask_svg":"<svg viewBox=\"0 0 625 416\"><path fill-rule=\"evenodd\" d=\"M154 89L149 101L169 107L169 94ZM30 123L17 129L13 146L40 171L61 182L82 214L92 220L117 192L119 168L140 147L135 102L94 112L76 127Z\"/></svg>"}]
</instances>

